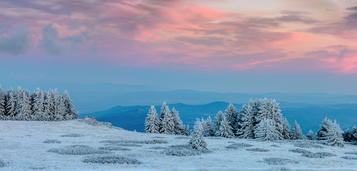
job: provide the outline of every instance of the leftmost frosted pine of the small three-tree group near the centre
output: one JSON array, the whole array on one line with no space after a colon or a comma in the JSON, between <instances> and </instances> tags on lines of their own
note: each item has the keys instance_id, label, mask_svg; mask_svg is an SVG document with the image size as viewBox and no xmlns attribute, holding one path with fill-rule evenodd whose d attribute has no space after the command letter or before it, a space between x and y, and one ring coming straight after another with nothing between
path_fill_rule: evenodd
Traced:
<instances>
[{"instance_id":1,"label":"leftmost frosted pine of the small three-tree group near the centre","mask_svg":"<svg viewBox=\"0 0 357 171\"><path fill-rule=\"evenodd\" d=\"M145 133L160 133L160 119L157 117L156 108L151 106L148 116L145 119Z\"/></svg>"}]
</instances>

